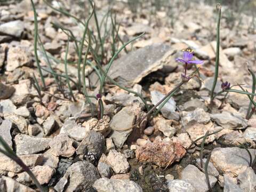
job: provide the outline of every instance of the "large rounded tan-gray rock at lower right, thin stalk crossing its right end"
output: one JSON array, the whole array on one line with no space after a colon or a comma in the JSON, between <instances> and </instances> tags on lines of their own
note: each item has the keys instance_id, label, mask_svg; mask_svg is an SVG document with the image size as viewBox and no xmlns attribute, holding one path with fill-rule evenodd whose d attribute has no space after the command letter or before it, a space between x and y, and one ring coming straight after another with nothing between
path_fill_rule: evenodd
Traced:
<instances>
[{"instance_id":1,"label":"large rounded tan-gray rock at lower right, thin stalk crossing its right end","mask_svg":"<svg viewBox=\"0 0 256 192\"><path fill-rule=\"evenodd\" d=\"M254 159L255 149L249 151ZM249 166L250 157L245 149L238 147L215 148L212 150L211 162L218 170L239 174Z\"/></svg>"}]
</instances>

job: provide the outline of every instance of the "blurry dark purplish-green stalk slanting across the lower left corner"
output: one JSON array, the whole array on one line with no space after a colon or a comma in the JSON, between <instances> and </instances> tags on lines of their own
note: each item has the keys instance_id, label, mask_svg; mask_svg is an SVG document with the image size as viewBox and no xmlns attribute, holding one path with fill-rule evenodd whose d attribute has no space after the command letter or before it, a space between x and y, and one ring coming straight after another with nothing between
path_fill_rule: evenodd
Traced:
<instances>
[{"instance_id":1,"label":"blurry dark purplish-green stalk slanting across the lower left corner","mask_svg":"<svg viewBox=\"0 0 256 192\"><path fill-rule=\"evenodd\" d=\"M5 156L11 158L13 161L15 161L18 165L22 167L24 171L26 171L31 179L34 181L36 187L41 191L45 192L44 188L40 185L39 181L36 179L33 172L30 171L27 165L22 162L22 160L12 151L12 149L9 147L9 145L4 141L2 136L0 136L0 143L4 147L4 150L0 148L0 153L4 154Z\"/></svg>"}]
</instances>

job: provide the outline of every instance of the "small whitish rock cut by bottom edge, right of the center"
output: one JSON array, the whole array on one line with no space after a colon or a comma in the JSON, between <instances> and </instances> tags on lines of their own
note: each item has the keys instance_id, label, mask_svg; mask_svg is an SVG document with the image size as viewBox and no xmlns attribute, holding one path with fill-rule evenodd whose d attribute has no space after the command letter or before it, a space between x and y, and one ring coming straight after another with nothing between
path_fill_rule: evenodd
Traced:
<instances>
[{"instance_id":1,"label":"small whitish rock cut by bottom edge, right of the center","mask_svg":"<svg viewBox=\"0 0 256 192\"><path fill-rule=\"evenodd\" d=\"M193 185L183 180L167 180L167 186L170 192L196 192Z\"/></svg>"}]
</instances>

